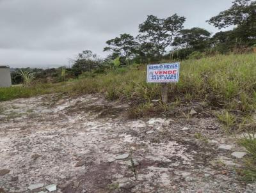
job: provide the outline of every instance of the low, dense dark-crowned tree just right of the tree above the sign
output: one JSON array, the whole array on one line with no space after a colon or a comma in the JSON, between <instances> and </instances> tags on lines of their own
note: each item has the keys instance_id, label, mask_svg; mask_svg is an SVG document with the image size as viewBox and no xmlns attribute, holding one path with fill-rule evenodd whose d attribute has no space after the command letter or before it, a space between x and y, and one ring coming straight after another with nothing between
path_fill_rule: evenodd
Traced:
<instances>
[{"instance_id":1,"label":"low, dense dark-crowned tree just right of the tree above the sign","mask_svg":"<svg viewBox=\"0 0 256 193\"><path fill-rule=\"evenodd\" d=\"M182 29L179 35L173 40L172 45L184 47L186 49L204 50L208 45L211 33L206 29L193 27L191 29Z\"/></svg>"}]
</instances>

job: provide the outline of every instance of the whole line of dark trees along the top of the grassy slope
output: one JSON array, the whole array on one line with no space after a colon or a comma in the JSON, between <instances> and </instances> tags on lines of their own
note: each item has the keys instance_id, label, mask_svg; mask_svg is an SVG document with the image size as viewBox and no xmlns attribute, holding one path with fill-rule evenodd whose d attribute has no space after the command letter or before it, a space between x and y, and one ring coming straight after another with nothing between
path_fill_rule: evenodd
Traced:
<instances>
[{"instance_id":1,"label":"whole line of dark trees along the top of the grassy slope","mask_svg":"<svg viewBox=\"0 0 256 193\"><path fill-rule=\"evenodd\" d=\"M225 54L237 50L256 48L256 1L235 0L228 10L220 12L206 22L221 31L211 35L200 27L184 29L186 17L173 14L165 19L148 15L139 25L138 35L121 34L108 40L104 52L108 57L100 59L90 50L84 50L72 59L68 75L77 77L82 73L105 72L131 63L155 63L164 59L178 60L200 58L204 54ZM223 29L233 26L232 30ZM63 68L61 68L63 69ZM60 78L60 70L42 71L39 75Z\"/></svg>"}]
</instances>

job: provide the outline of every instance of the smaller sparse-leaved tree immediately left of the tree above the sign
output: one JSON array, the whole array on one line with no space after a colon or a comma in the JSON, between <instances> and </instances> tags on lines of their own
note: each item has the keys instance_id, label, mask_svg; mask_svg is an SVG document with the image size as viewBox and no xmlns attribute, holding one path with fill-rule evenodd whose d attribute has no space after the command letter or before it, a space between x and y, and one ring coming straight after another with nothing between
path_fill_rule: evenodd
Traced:
<instances>
[{"instance_id":1,"label":"smaller sparse-leaved tree immediately left of the tree above the sign","mask_svg":"<svg viewBox=\"0 0 256 193\"><path fill-rule=\"evenodd\" d=\"M106 42L109 47L105 47L104 51L113 51L113 53L124 57L124 60L129 60L134 53L136 43L135 38L132 35L124 33L119 37L113 38Z\"/></svg>"}]
</instances>

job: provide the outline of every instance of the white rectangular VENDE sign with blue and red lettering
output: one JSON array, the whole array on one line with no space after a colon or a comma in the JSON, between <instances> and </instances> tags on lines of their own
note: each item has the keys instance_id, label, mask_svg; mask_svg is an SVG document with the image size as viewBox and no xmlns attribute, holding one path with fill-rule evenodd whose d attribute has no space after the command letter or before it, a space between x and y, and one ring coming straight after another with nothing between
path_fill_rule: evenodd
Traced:
<instances>
[{"instance_id":1,"label":"white rectangular VENDE sign with blue and red lettering","mask_svg":"<svg viewBox=\"0 0 256 193\"><path fill-rule=\"evenodd\" d=\"M147 66L147 82L179 82L180 63Z\"/></svg>"}]
</instances>

